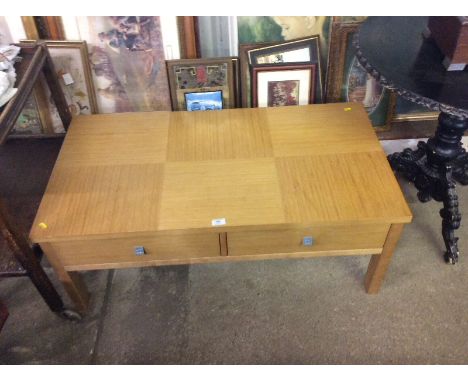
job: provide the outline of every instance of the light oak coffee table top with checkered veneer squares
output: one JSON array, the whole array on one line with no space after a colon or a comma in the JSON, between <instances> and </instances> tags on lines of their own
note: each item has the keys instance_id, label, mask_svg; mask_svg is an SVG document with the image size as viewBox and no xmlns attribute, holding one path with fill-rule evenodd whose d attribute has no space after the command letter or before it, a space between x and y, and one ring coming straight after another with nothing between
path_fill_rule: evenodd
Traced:
<instances>
[{"instance_id":1,"label":"light oak coffee table top with checkered veneer squares","mask_svg":"<svg viewBox=\"0 0 468 382\"><path fill-rule=\"evenodd\" d=\"M360 104L101 114L72 121L31 238L410 220Z\"/></svg>"}]
</instances>

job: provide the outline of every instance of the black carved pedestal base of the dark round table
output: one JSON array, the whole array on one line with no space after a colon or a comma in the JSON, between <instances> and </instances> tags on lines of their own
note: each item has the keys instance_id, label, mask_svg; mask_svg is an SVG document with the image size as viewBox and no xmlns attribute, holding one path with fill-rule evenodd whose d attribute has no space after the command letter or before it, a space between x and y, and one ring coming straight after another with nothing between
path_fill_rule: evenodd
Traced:
<instances>
[{"instance_id":1,"label":"black carved pedestal base of the dark round table","mask_svg":"<svg viewBox=\"0 0 468 382\"><path fill-rule=\"evenodd\" d=\"M452 264L458 261L458 237L454 231L461 221L455 181L468 184L468 154L461 143L467 128L468 119L441 113L436 134L427 143L419 142L416 150L405 149L388 157L394 170L414 182L421 202L443 202L440 216L447 249L445 261Z\"/></svg>"}]
</instances>

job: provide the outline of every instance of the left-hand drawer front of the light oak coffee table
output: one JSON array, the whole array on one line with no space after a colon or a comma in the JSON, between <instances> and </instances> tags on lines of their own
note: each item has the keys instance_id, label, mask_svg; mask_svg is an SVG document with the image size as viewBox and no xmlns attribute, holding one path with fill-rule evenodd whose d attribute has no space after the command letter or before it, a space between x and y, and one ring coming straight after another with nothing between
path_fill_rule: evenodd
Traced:
<instances>
[{"instance_id":1,"label":"left-hand drawer front of the light oak coffee table","mask_svg":"<svg viewBox=\"0 0 468 382\"><path fill-rule=\"evenodd\" d=\"M145 262L189 263L193 258L220 256L219 234L158 234L153 236L77 240L50 244L69 270L142 266ZM136 255L136 247L145 254Z\"/></svg>"}]
</instances>

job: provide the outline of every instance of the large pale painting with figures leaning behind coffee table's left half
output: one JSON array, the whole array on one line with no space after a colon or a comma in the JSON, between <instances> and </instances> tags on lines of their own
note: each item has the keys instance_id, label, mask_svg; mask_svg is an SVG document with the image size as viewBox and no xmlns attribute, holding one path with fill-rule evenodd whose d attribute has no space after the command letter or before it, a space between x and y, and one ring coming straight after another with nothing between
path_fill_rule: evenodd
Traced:
<instances>
[{"instance_id":1,"label":"large pale painting with figures leaning behind coffee table's left half","mask_svg":"<svg viewBox=\"0 0 468 382\"><path fill-rule=\"evenodd\" d=\"M171 109L159 16L77 16L76 26L100 113Z\"/></svg>"}]
</instances>

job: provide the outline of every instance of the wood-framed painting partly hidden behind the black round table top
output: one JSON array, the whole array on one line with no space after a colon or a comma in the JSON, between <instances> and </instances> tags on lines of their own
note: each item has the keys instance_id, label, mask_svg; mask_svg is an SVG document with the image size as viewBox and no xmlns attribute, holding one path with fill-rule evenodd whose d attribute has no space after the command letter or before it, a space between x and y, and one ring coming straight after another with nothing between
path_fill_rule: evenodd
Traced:
<instances>
[{"instance_id":1,"label":"wood-framed painting partly hidden behind the black round table top","mask_svg":"<svg viewBox=\"0 0 468 382\"><path fill-rule=\"evenodd\" d=\"M382 87L359 64L352 45L360 22L332 25L330 58L327 70L327 102L360 102L372 126L389 129L395 95Z\"/></svg>"}]
</instances>

